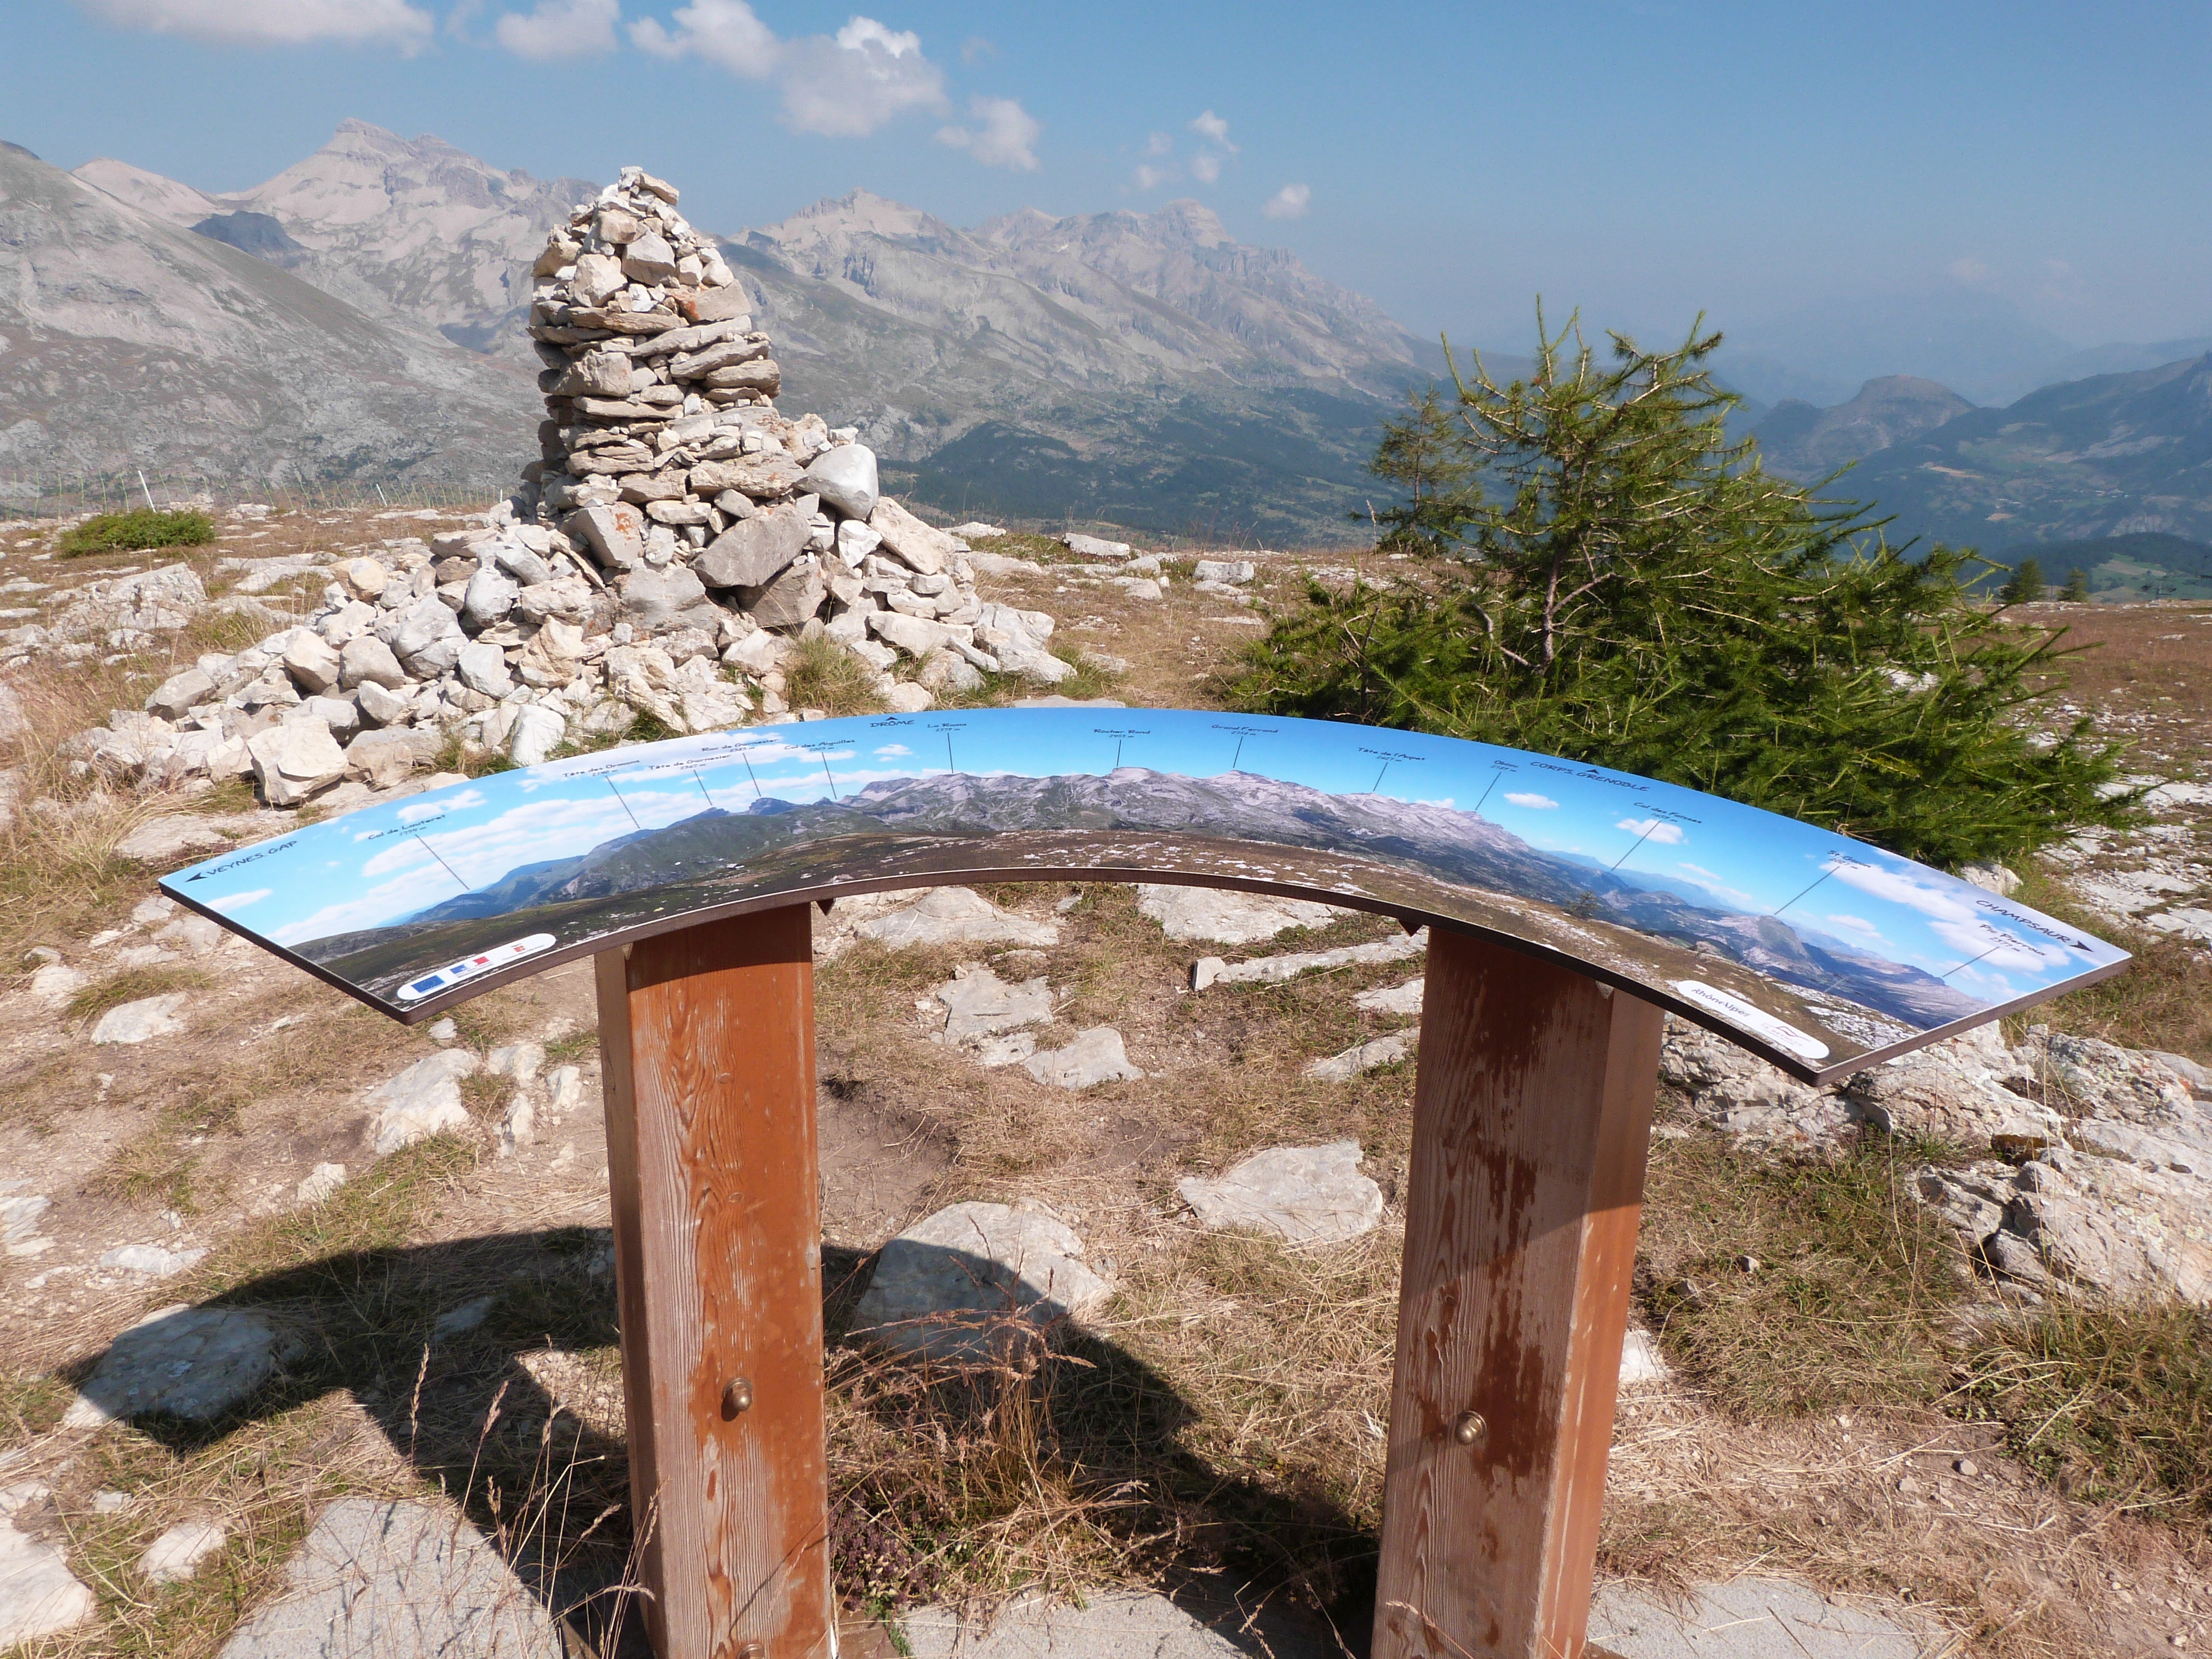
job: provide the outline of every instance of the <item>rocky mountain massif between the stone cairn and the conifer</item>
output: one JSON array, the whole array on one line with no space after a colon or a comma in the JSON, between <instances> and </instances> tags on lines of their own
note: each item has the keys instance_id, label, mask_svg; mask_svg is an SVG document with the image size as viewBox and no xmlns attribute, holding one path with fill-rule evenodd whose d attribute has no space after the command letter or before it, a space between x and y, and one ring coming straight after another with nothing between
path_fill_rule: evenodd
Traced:
<instances>
[{"instance_id":1,"label":"rocky mountain massif between the stone cairn and the conifer","mask_svg":"<svg viewBox=\"0 0 2212 1659\"><path fill-rule=\"evenodd\" d=\"M1197 201L958 230L856 190L726 252L785 396L960 515L1340 538L1429 356Z\"/></svg>"}]
</instances>

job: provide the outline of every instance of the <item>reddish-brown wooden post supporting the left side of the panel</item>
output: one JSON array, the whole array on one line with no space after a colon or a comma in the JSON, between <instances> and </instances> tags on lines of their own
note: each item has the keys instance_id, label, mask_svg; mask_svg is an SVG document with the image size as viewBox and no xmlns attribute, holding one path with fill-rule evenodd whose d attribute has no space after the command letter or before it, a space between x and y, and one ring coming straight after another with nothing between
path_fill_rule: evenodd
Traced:
<instances>
[{"instance_id":1,"label":"reddish-brown wooden post supporting the left side of the panel","mask_svg":"<svg viewBox=\"0 0 2212 1659\"><path fill-rule=\"evenodd\" d=\"M807 907L597 967L646 1628L659 1659L827 1659Z\"/></svg>"}]
</instances>

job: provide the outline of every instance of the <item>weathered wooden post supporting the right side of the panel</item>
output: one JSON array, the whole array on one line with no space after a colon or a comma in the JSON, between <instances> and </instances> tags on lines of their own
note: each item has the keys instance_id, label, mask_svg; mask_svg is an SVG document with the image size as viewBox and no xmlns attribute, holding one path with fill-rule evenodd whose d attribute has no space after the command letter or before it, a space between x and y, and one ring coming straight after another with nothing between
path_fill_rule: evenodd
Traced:
<instances>
[{"instance_id":1,"label":"weathered wooden post supporting the right side of the panel","mask_svg":"<svg viewBox=\"0 0 2212 1659\"><path fill-rule=\"evenodd\" d=\"M1442 927L1374 1659L1582 1659L1659 1009Z\"/></svg>"}]
</instances>

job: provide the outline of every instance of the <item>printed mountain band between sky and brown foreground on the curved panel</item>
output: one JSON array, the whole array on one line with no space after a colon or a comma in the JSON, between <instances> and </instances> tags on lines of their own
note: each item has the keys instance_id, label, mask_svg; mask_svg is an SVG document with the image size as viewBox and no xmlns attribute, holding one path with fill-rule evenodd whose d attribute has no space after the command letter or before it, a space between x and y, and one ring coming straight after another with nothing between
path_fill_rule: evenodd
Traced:
<instances>
[{"instance_id":1,"label":"printed mountain band between sky and brown foreground on the curved panel","mask_svg":"<svg viewBox=\"0 0 2212 1659\"><path fill-rule=\"evenodd\" d=\"M314 940L301 953L341 964L394 933L493 920L522 927L540 907L611 900L739 874L785 847L834 856L843 836L989 838L1022 832L1170 832L1225 843L1272 843L1358 854L1431 878L1615 922L1677 949L1710 949L1756 973L1905 1020L1918 1029L1964 1018L1980 1004L1920 969L1869 956L1774 916L1690 898L1674 883L1588 867L1540 852L1473 812L1383 794L1327 794L1252 772L1192 779L1126 765L1113 772L1018 776L936 774L889 779L843 801L754 801L743 812L708 807L635 830L591 852L515 867L498 880L416 911L389 929ZM427 949L427 940L425 940Z\"/></svg>"}]
</instances>

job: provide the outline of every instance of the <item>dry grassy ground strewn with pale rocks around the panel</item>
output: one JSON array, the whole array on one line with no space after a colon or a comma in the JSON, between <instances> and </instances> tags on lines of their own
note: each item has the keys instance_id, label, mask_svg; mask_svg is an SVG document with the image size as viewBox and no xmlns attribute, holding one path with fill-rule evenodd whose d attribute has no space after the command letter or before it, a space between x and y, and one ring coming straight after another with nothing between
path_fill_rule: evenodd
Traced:
<instances>
[{"instance_id":1,"label":"dry grassy ground strewn with pale rocks around the panel","mask_svg":"<svg viewBox=\"0 0 2212 1659\"><path fill-rule=\"evenodd\" d=\"M434 686L438 710L418 690L407 719L374 723L343 681L352 639L319 630L383 608L347 577L361 562L407 580L409 604L445 604L438 549L471 549L482 571L482 529L239 511L206 551L71 562L51 555L53 526L7 538L0 597L20 615L0 624L42 637L0 675L18 964L0 1055L15 1336L0 1650L553 1655L549 1608L602 1652L635 1646L608 1595L628 1517L588 969L403 1031L153 896L159 869L217 845L513 754L520 717L493 730L500 697L451 692L458 650L407 681ZM960 535L973 602L1035 619L1040 646L1051 624L1062 695L1203 706L1265 606L1296 599L1287 555L1199 564L987 529ZM409 571L434 577L429 595ZM2212 1104L2194 1064L2212 1046L2188 916L2205 907L2212 768L2192 686L2212 677L2212 611L2084 626L2110 646L2077 668L2077 701L2137 734L2135 765L2159 783L2141 830L2057 849L2024 896L2139 929L2157 953L2139 991L1825 1093L1670 1029L1601 1553L1599 1626L1619 1652L2212 1639L2201 1511L2053 1462L2053 1438L1982 1387L1997 1376L1984 1356L2051 1310L2212 1301ZM332 701L354 692L336 770L294 770L263 741L330 697L303 684L321 657L301 630L341 661ZM619 648L606 637L602 661ZM732 677L723 650L701 657L701 695L889 697L823 657ZM243 770L164 763L186 721L159 732L144 706L181 672L208 679L188 710L217 710L192 726L201 748L239 741ZM562 741L622 741L648 692L668 697L604 668L562 686L580 679ZM925 690L1042 686L991 672ZM312 712L336 743L343 717ZM666 712L686 714L681 695ZM420 737L372 745L389 757L372 763L354 757L372 732ZM854 1644L878 1619L916 1652L1356 1637L1422 945L1318 905L1113 885L816 918ZM1887 1130L1878 1157L1869 1126ZM1805 1217L1836 1206L1836 1170L1874 1170L1874 1206L1851 1214L1889 1221L1823 1243ZM1781 1197L1759 1208L1763 1192ZM945 1281L951 1237L991 1290ZM1860 1283L1887 1298L1874 1314L1851 1312ZM1893 1285L1916 1287L1911 1321ZM1064 1323L1068 1358L993 1365L1009 1305ZM1756 1314L1759 1343L1728 1343L1732 1310ZM1783 1354L1796 1369L1776 1380ZM929 1387L929 1367L969 1383ZM354 1573L374 1595L338 1593ZM940 1610L1024 1586L1088 1590L1097 1624L1051 1637L1031 1626L1077 1615L1013 1604L980 1628ZM1712 1646L1761 1619L1774 1646Z\"/></svg>"}]
</instances>

